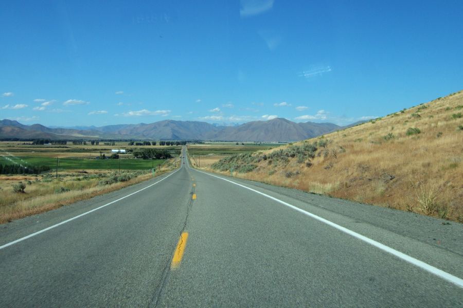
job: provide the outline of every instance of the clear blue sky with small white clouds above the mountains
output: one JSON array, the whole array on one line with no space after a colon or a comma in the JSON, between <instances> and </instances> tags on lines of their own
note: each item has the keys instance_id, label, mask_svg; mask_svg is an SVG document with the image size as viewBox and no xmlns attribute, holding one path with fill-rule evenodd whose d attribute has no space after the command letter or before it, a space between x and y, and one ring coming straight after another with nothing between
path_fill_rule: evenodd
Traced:
<instances>
[{"instance_id":1,"label":"clear blue sky with small white clouds above the mountains","mask_svg":"<svg viewBox=\"0 0 463 308\"><path fill-rule=\"evenodd\" d=\"M463 89L463 1L2 1L0 119L339 125Z\"/></svg>"}]
</instances>

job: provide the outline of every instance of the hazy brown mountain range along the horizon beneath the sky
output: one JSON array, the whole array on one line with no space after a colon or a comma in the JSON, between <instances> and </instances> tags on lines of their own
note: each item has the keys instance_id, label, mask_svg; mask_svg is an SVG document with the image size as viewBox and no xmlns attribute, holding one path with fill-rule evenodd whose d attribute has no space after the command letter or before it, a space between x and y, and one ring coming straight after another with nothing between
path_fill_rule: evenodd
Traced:
<instances>
[{"instance_id":1,"label":"hazy brown mountain range along the horizon beneath the sky","mask_svg":"<svg viewBox=\"0 0 463 308\"><path fill-rule=\"evenodd\" d=\"M358 122L360 123L360 122ZM295 123L283 118L253 121L238 126L223 126L199 121L163 120L150 124L74 126L48 128L41 124L24 125L0 120L0 138L20 139L155 139L292 142L317 137L347 126L332 123Z\"/></svg>"}]
</instances>

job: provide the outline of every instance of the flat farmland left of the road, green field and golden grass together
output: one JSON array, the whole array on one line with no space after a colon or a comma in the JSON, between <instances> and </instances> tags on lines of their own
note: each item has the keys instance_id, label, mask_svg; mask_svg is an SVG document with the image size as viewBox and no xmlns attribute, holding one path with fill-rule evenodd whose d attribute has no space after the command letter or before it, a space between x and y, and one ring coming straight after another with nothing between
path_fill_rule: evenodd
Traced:
<instances>
[{"instance_id":1,"label":"flat farmland left of the road, green field and golden grass together","mask_svg":"<svg viewBox=\"0 0 463 308\"><path fill-rule=\"evenodd\" d=\"M181 147L90 145L32 145L27 142L0 142L0 164L15 166L48 166L41 174L0 175L0 223L86 200L128 185L133 185L169 172L179 165L173 159L134 159L129 151L161 148L177 153ZM120 159L99 159L111 156L112 149L126 149ZM98 159L97 159L98 158ZM58 170L57 170L58 167Z\"/></svg>"}]
</instances>

